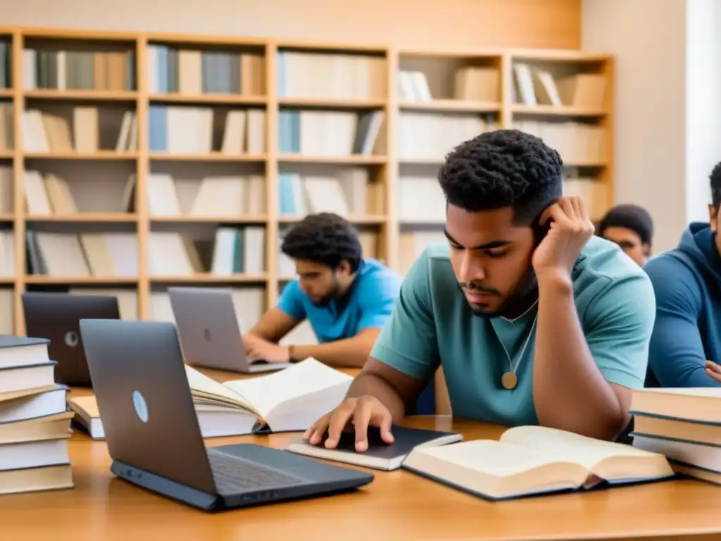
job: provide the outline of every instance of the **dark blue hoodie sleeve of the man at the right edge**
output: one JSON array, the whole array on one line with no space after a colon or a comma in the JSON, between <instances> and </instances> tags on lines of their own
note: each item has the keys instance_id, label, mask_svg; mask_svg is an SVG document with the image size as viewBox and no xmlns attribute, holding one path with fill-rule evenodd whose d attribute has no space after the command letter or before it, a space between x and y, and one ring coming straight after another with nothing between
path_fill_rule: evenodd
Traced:
<instances>
[{"instance_id":1,"label":"dark blue hoodie sleeve of the man at the right edge","mask_svg":"<svg viewBox=\"0 0 721 541\"><path fill-rule=\"evenodd\" d=\"M719 387L706 374L699 333L701 291L689 268L671 256L645 265L656 295L656 325L648 364L662 387Z\"/></svg>"}]
</instances>

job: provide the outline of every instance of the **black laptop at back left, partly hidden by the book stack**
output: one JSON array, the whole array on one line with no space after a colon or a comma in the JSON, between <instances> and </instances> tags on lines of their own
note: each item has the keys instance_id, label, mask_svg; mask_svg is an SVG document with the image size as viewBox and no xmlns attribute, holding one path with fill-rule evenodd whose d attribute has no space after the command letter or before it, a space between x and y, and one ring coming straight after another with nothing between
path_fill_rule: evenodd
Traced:
<instances>
[{"instance_id":1,"label":"black laptop at back left, partly hidden by the book stack","mask_svg":"<svg viewBox=\"0 0 721 541\"><path fill-rule=\"evenodd\" d=\"M26 334L48 338L48 354L58 364L57 383L92 387L79 321L120 319L115 296L30 291L22 294Z\"/></svg>"}]
</instances>

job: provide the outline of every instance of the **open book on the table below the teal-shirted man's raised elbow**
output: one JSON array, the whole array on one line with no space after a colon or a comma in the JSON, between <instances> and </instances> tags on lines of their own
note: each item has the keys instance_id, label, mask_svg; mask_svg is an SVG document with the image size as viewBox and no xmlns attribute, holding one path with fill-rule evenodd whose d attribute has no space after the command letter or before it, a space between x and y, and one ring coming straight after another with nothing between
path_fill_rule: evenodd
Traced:
<instances>
[{"instance_id":1,"label":"open book on the table below the teal-shirted man's raised elbow","mask_svg":"<svg viewBox=\"0 0 721 541\"><path fill-rule=\"evenodd\" d=\"M487 500L673 476L663 454L554 428L509 428L499 441L418 447L404 469Z\"/></svg>"}]
</instances>

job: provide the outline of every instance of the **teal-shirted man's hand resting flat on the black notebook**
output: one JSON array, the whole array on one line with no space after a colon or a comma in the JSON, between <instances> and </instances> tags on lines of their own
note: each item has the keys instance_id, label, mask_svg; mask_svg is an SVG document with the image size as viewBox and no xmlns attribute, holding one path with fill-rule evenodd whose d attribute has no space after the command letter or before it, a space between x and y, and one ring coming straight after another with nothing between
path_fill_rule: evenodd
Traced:
<instances>
[{"instance_id":1,"label":"teal-shirted man's hand resting flat on the black notebook","mask_svg":"<svg viewBox=\"0 0 721 541\"><path fill-rule=\"evenodd\" d=\"M388 408L376 397L364 395L343 400L335 410L319 418L306 430L303 437L309 444L317 445L327 433L325 447L335 449L342 432L352 424L355 427L355 450L363 452L368 450L368 426L380 428L381 439L390 445L394 442L391 434L392 423L393 418Z\"/></svg>"}]
</instances>

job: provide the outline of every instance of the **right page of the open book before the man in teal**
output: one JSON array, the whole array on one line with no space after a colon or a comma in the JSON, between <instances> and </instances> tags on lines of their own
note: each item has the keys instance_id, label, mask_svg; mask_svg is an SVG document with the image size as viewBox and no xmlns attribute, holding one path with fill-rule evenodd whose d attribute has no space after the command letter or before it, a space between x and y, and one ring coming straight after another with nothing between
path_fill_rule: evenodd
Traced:
<instances>
[{"instance_id":1,"label":"right page of the open book before the man in teal","mask_svg":"<svg viewBox=\"0 0 721 541\"><path fill-rule=\"evenodd\" d=\"M575 462L587 470L611 457L650 457L651 454L630 445L579 436L544 426L516 426L500 436L500 441L529 449L551 452L559 460Z\"/></svg>"}]
</instances>

